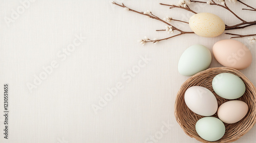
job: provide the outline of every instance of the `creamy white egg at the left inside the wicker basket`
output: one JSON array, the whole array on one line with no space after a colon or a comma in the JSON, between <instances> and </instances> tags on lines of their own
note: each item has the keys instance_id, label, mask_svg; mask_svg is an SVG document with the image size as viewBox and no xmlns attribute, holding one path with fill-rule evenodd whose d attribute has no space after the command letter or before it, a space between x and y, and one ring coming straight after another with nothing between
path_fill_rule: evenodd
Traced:
<instances>
[{"instance_id":1,"label":"creamy white egg at the left inside the wicker basket","mask_svg":"<svg viewBox=\"0 0 256 143\"><path fill-rule=\"evenodd\" d=\"M185 91L184 100L187 107L203 116L211 116L218 110L218 102L214 94L207 88L191 86Z\"/></svg>"}]
</instances>

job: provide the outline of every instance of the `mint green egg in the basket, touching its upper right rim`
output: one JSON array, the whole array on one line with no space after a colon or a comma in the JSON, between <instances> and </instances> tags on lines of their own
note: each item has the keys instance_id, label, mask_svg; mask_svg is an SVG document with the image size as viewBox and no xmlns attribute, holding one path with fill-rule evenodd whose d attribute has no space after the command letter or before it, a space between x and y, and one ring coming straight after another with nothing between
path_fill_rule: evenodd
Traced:
<instances>
[{"instance_id":1,"label":"mint green egg in the basket, touching its upper right rim","mask_svg":"<svg viewBox=\"0 0 256 143\"><path fill-rule=\"evenodd\" d=\"M245 84L241 78L230 73L221 73L212 80L212 88L224 99L238 99L245 92Z\"/></svg>"}]
</instances>

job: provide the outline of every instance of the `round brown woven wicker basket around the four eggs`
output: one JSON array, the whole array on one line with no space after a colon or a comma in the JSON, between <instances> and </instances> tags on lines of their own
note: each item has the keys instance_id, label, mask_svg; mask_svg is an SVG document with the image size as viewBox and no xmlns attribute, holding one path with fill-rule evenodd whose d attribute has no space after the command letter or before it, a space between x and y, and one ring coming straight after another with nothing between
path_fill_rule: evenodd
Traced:
<instances>
[{"instance_id":1,"label":"round brown woven wicker basket around the four eggs","mask_svg":"<svg viewBox=\"0 0 256 143\"><path fill-rule=\"evenodd\" d=\"M248 109L248 113L241 121L234 124L224 123L226 127L226 132L221 139L217 141L207 141L201 138L196 131L197 121L204 116L194 113L186 106L184 101L184 94L186 89L191 86L202 86L209 89L212 93L214 93L218 101L218 107L221 104L227 101L230 101L230 100L219 97L214 92L211 86L212 79L216 75L221 73L231 73L231 74L237 75L243 80L246 86L246 91L244 95L237 100L245 102L248 105L249 109ZM201 142L232 142L232 141L236 141L237 139L242 137L244 134L246 134L255 124L256 122L256 116L255 116L256 103L255 102L256 102L256 89L254 85L242 73L240 73L240 71L233 68L228 68L228 67L209 68L190 77L181 85L181 88L177 93L177 97L175 101L175 117L177 122L180 124L181 128L184 130L184 132L188 136L194 137ZM217 113L215 113L212 116L218 117Z\"/></svg>"}]
</instances>

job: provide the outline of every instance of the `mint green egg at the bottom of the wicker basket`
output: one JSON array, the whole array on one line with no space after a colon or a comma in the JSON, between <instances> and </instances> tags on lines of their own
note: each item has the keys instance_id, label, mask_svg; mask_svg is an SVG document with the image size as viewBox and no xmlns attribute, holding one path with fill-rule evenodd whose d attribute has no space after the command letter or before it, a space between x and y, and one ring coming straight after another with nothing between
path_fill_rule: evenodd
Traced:
<instances>
[{"instance_id":1,"label":"mint green egg at the bottom of the wicker basket","mask_svg":"<svg viewBox=\"0 0 256 143\"><path fill-rule=\"evenodd\" d=\"M196 123L196 131L200 137L208 141L216 141L225 134L224 123L216 117L203 117Z\"/></svg>"}]
</instances>

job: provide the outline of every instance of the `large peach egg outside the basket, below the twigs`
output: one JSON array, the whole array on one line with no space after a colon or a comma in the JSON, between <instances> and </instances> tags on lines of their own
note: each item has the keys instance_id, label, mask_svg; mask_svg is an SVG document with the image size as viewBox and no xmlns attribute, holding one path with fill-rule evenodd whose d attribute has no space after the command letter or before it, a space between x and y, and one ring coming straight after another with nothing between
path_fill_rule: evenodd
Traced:
<instances>
[{"instance_id":1,"label":"large peach egg outside the basket, below the twigs","mask_svg":"<svg viewBox=\"0 0 256 143\"><path fill-rule=\"evenodd\" d=\"M251 64L250 50L237 40L221 40L212 47L215 59L226 67L244 69Z\"/></svg>"}]
</instances>

